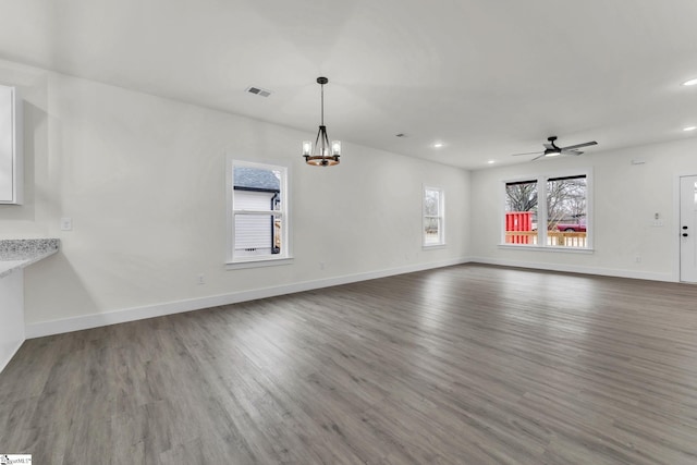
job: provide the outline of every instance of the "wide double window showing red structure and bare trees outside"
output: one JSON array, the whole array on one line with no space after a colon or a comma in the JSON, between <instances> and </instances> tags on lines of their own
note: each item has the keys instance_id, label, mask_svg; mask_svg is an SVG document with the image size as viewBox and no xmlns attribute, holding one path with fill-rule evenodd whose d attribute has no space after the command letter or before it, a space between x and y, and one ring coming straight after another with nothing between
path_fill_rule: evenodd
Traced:
<instances>
[{"instance_id":1,"label":"wide double window showing red structure and bare trees outside","mask_svg":"<svg viewBox=\"0 0 697 465\"><path fill-rule=\"evenodd\" d=\"M504 186L504 244L590 248L588 173L510 181Z\"/></svg>"}]
</instances>

